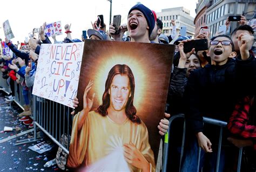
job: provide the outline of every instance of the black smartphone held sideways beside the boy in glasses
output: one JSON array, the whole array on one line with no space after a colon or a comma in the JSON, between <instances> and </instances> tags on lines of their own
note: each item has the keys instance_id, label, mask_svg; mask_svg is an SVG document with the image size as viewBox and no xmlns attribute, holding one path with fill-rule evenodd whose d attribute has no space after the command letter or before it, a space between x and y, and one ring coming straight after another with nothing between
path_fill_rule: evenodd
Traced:
<instances>
[{"instance_id":1,"label":"black smartphone held sideways beside the boy in glasses","mask_svg":"<svg viewBox=\"0 0 256 172\"><path fill-rule=\"evenodd\" d=\"M195 51L208 50L208 39L197 39L184 43L185 53L192 51L193 48L195 49Z\"/></svg>"}]
</instances>

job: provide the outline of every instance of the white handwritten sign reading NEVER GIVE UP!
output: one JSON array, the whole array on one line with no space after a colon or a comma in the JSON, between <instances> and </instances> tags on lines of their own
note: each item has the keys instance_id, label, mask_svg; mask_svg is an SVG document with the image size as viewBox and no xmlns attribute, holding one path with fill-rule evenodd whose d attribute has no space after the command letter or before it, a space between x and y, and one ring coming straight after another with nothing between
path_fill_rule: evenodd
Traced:
<instances>
[{"instance_id":1,"label":"white handwritten sign reading NEVER GIVE UP!","mask_svg":"<svg viewBox=\"0 0 256 172\"><path fill-rule=\"evenodd\" d=\"M42 44L32 94L73 108L84 43Z\"/></svg>"}]
</instances>

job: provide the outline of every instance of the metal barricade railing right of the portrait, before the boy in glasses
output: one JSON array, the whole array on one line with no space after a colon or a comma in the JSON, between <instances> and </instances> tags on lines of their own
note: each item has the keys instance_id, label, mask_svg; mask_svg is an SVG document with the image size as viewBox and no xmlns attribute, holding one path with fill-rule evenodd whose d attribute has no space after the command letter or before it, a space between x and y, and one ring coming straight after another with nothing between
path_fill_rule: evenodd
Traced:
<instances>
[{"instance_id":1,"label":"metal barricade railing right of the portrait, before the boy in glasses","mask_svg":"<svg viewBox=\"0 0 256 172\"><path fill-rule=\"evenodd\" d=\"M183 154L184 154L184 145L185 145L185 134L186 134L186 122L185 122L185 116L184 114L177 114L174 115L170 118L170 123L169 123L169 129L167 130L167 133L171 133L171 126L172 122L176 119L184 119L184 125L183 125L183 137L182 137L182 143L181 143L181 153L180 153L180 161L179 161L179 171L181 170L181 160L183 159ZM206 118L203 117L203 122L216 125L220 127L220 135L219 135L219 144L218 144L218 153L217 153L217 166L216 166L216 171L219 171L219 163L220 163L220 152L221 152L221 143L223 139L223 128L227 126L227 122L220 121L220 120L215 120L211 118ZM168 134L167 134L168 136ZM168 163L168 153L169 153L169 137L166 138L168 141L164 143L164 154L163 154L163 171L167 171L167 163ZM165 139L165 140L166 140ZM201 155L201 148L199 147L198 149L198 164L197 164L197 171L199 171L199 164L200 164L200 155ZM241 159L242 159L242 147L239 149L239 156L238 156L238 167L237 171L240 171L241 169Z\"/></svg>"}]
</instances>

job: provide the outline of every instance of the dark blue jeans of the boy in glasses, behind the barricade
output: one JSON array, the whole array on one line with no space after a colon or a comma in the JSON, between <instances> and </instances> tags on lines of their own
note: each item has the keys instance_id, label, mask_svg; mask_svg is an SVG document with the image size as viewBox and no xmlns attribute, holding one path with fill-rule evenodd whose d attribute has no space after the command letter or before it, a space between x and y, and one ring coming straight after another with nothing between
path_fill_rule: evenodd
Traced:
<instances>
[{"instance_id":1,"label":"dark blue jeans of the boy in glasses, behind the barricade","mask_svg":"<svg viewBox=\"0 0 256 172\"><path fill-rule=\"evenodd\" d=\"M192 140L190 140L188 147L186 147L185 149L186 150L183 155L183 162L181 163L181 171L197 171L199 149L197 138L194 137ZM214 149L212 153L205 153L204 150L201 149L199 171L201 171L201 168L203 168L203 171L216 171L217 156L218 149ZM225 153L222 148L220 152L219 172L224 171L224 164Z\"/></svg>"}]
</instances>

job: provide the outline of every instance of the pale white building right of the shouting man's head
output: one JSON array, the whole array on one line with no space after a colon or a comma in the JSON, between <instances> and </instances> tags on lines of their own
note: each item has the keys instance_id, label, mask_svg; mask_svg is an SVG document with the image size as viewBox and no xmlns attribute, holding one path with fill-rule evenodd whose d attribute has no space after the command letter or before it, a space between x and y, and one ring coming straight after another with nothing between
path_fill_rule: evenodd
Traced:
<instances>
[{"instance_id":1,"label":"pale white building right of the shouting man's head","mask_svg":"<svg viewBox=\"0 0 256 172\"><path fill-rule=\"evenodd\" d=\"M163 22L163 33L166 36L172 33L171 20L176 20L177 34L179 34L180 27L186 26L187 36L194 37L194 18L190 16L190 10L184 7L163 9L157 13L157 17Z\"/></svg>"}]
</instances>

